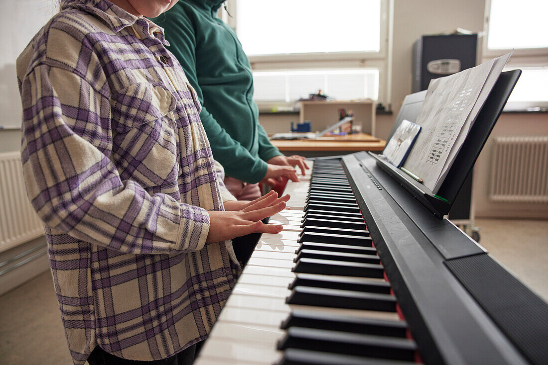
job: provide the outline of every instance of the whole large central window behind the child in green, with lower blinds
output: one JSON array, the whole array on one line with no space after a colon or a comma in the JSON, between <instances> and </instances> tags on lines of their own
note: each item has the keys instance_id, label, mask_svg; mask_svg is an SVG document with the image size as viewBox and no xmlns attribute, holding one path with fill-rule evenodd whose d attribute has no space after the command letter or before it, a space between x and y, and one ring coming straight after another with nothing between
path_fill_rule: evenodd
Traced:
<instances>
[{"instance_id":1,"label":"whole large central window behind the child in green, with lower blinds","mask_svg":"<svg viewBox=\"0 0 548 365\"><path fill-rule=\"evenodd\" d=\"M388 0L232 0L235 28L253 67L259 107L292 105L322 90L338 100L389 102Z\"/></svg>"}]
</instances>

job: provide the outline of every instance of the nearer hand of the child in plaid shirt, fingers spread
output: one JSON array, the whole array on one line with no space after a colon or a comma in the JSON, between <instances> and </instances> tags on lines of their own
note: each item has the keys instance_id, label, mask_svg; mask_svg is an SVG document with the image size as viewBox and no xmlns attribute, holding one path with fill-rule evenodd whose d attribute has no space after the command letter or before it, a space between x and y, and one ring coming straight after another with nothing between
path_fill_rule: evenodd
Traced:
<instances>
[{"instance_id":1,"label":"nearer hand of the child in plaid shirt, fingers spread","mask_svg":"<svg viewBox=\"0 0 548 365\"><path fill-rule=\"evenodd\" d=\"M238 211L221 212L211 210L209 213L209 233L207 242L219 242L245 236L250 233L278 233L281 225L264 224L261 219L270 217L286 207L286 202L273 203L278 199L276 192L271 192L256 199L246 208Z\"/></svg>"}]
</instances>

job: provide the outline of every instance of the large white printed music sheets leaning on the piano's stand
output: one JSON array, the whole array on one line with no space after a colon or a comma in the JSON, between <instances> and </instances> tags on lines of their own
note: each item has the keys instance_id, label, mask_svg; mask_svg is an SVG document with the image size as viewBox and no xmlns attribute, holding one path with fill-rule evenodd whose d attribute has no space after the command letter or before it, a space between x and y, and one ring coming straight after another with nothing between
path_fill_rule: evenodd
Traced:
<instances>
[{"instance_id":1,"label":"large white printed music sheets leaning on the piano's stand","mask_svg":"<svg viewBox=\"0 0 548 365\"><path fill-rule=\"evenodd\" d=\"M430 82L404 167L436 193L511 53Z\"/></svg>"}]
</instances>

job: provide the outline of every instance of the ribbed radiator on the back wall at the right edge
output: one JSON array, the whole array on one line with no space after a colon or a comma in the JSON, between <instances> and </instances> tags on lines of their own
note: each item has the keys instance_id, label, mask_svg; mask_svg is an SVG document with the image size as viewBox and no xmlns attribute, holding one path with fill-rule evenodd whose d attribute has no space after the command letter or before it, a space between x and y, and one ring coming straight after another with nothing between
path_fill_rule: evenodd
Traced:
<instances>
[{"instance_id":1,"label":"ribbed radiator on the back wall at the right edge","mask_svg":"<svg viewBox=\"0 0 548 365\"><path fill-rule=\"evenodd\" d=\"M548 202L548 136L494 139L489 197L498 202Z\"/></svg>"}]
</instances>

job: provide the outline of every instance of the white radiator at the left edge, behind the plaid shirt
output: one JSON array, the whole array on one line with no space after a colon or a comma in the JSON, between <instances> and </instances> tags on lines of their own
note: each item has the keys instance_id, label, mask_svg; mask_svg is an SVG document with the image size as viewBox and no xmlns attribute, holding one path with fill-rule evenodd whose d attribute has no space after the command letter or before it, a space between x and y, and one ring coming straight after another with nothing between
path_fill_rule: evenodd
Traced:
<instances>
[{"instance_id":1,"label":"white radiator at the left edge, behind the plaid shirt","mask_svg":"<svg viewBox=\"0 0 548 365\"><path fill-rule=\"evenodd\" d=\"M27 199L19 153L0 153L0 252L43 234Z\"/></svg>"}]
</instances>

